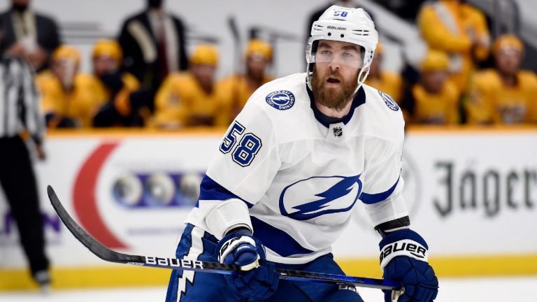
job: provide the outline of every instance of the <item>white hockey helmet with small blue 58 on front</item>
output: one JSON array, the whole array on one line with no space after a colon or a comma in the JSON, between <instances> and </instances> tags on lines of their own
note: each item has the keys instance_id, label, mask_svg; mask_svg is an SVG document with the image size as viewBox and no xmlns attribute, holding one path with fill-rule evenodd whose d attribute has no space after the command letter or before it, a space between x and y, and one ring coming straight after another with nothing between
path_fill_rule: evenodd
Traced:
<instances>
[{"instance_id":1,"label":"white hockey helmet with small blue 58 on front","mask_svg":"<svg viewBox=\"0 0 537 302\"><path fill-rule=\"evenodd\" d=\"M369 73L368 67L373 60L373 53L378 43L378 33L371 16L363 8L345 8L330 6L324 10L319 20L313 22L311 36L306 45L306 62L308 62L308 87L311 89L313 64L318 41L332 40L356 44L364 48L361 70L358 75L358 86L361 87ZM366 71L363 75L362 73ZM362 78L363 75L363 78Z\"/></svg>"}]
</instances>

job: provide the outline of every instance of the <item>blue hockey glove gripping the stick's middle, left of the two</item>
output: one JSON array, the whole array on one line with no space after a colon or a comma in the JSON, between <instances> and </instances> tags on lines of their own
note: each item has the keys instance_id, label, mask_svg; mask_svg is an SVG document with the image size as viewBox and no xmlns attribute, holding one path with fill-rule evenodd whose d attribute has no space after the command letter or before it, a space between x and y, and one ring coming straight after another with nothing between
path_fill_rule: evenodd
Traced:
<instances>
[{"instance_id":1,"label":"blue hockey glove gripping the stick's middle, left of the two","mask_svg":"<svg viewBox=\"0 0 537 302\"><path fill-rule=\"evenodd\" d=\"M262 243L250 231L229 233L216 247L218 261L236 264L241 272L224 275L227 283L250 299L267 299L274 294L280 277L273 263L266 261Z\"/></svg>"}]
</instances>

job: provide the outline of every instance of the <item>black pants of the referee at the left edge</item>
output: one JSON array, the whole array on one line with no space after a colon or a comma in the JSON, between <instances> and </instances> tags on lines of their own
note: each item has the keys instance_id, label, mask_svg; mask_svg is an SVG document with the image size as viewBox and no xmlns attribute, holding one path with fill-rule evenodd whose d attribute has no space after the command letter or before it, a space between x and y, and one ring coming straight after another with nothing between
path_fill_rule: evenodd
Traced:
<instances>
[{"instance_id":1,"label":"black pants of the referee at the left edge","mask_svg":"<svg viewBox=\"0 0 537 302\"><path fill-rule=\"evenodd\" d=\"M0 138L0 185L17 222L31 275L47 271L49 262L45 256L45 233L36 177L28 148L19 136Z\"/></svg>"}]
</instances>

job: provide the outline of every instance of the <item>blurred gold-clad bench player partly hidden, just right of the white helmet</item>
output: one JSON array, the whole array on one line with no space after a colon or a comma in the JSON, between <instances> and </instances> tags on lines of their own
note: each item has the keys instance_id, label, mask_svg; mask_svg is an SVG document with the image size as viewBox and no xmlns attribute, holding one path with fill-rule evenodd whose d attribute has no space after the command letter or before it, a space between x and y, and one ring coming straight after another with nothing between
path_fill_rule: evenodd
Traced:
<instances>
[{"instance_id":1,"label":"blurred gold-clad bench player partly hidden, just right of the white helmet","mask_svg":"<svg viewBox=\"0 0 537 302\"><path fill-rule=\"evenodd\" d=\"M382 55L384 55L384 48L382 44L378 43L375 49L375 57L371 66L369 67L369 75L364 82L366 85L374 87L381 92L389 94L396 102L401 101L401 93L403 89L403 80L401 75L392 71L383 71L380 69L382 64Z\"/></svg>"}]
</instances>

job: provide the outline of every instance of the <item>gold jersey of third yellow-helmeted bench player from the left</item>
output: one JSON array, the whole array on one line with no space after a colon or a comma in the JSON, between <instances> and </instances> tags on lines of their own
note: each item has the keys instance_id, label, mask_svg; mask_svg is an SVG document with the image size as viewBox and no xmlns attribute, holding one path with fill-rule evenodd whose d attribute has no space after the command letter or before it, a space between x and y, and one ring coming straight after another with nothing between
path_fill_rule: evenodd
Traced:
<instances>
[{"instance_id":1,"label":"gold jersey of third yellow-helmeted bench player from the left","mask_svg":"<svg viewBox=\"0 0 537 302\"><path fill-rule=\"evenodd\" d=\"M155 96L157 127L195 127L229 125L229 106L222 87L205 92L190 73L169 75Z\"/></svg>"}]
</instances>

